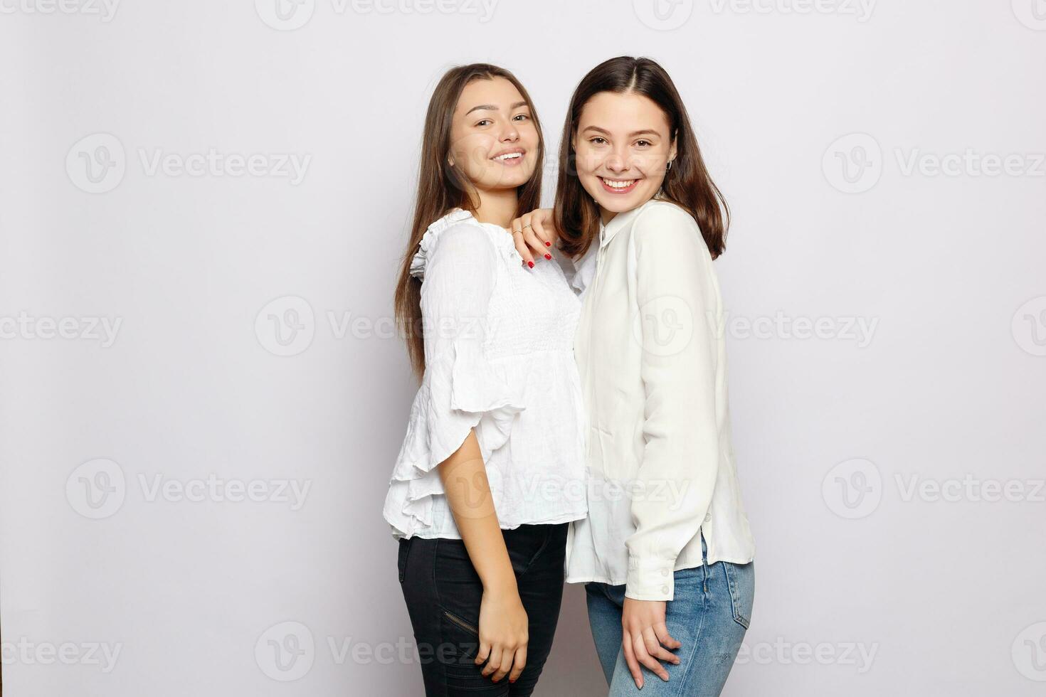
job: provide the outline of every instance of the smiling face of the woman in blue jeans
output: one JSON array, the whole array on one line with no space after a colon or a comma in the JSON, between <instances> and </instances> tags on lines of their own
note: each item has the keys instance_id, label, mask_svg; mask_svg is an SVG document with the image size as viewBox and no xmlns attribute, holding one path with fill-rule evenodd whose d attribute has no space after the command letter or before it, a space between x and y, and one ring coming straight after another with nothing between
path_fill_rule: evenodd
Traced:
<instances>
[{"instance_id":1,"label":"smiling face of the woman in blue jeans","mask_svg":"<svg viewBox=\"0 0 1046 697\"><path fill-rule=\"evenodd\" d=\"M577 179L602 222L654 198L676 158L668 119L649 97L599 92L582 109L573 136Z\"/></svg>"}]
</instances>

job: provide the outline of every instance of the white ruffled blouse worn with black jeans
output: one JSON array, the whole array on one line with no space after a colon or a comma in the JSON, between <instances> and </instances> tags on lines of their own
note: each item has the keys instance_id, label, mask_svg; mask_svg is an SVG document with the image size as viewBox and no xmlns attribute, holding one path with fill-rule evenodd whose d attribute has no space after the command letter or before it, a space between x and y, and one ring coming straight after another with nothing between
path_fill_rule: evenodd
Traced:
<instances>
[{"instance_id":1,"label":"white ruffled blouse worn with black jeans","mask_svg":"<svg viewBox=\"0 0 1046 697\"><path fill-rule=\"evenodd\" d=\"M474 427L502 529L586 515L581 300L559 263L522 261L507 230L459 209L411 260L426 369L385 498L396 538L461 538L435 468Z\"/></svg>"}]
</instances>

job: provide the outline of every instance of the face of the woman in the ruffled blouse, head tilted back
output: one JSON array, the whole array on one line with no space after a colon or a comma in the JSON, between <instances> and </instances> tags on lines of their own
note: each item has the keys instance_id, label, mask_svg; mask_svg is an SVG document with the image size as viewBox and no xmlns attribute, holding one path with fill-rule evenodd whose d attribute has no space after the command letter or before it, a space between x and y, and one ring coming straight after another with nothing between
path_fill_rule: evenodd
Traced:
<instances>
[{"instance_id":1,"label":"face of the woman in the ruffled blouse, head tilted back","mask_svg":"<svg viewBox=\"0 0 1046 697\"><path fill-rule=\"evenodd\" d=\"M526 184L538 162L530 106L504 77L474 79L461 91L451 126L450 160L480 191Z\"/></svg>"}]
</instances>

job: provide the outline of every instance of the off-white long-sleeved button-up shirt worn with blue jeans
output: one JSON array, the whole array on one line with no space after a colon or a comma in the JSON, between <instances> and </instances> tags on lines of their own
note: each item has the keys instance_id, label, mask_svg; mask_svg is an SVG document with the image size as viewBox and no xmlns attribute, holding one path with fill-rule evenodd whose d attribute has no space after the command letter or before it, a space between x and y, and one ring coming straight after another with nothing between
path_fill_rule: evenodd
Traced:
<instances>
[{"instance_id":1,"label":"off-white long-sleeved button-up shirt worn with blue jeans","mask_svg":"<svg viewBox=\"0 0 1046 697\"><path fill-rule=\"evenodd\" d=\"M655 199L601 227L574 266L589 516L571 524L567 581L672 600L673 572L702 564L701 531L708 563L755 554L734 467L712 258L695 219Z\"/></svg>"}]
</instances>

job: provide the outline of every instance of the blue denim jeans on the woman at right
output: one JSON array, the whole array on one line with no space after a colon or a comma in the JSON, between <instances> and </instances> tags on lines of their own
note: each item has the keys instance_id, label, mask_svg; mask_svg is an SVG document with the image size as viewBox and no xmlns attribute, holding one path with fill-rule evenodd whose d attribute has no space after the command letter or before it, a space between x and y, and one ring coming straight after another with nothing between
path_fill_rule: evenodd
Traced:
<instances>
[{"instance_id":1,"label":"blue denim jeans on the woman at right","mask_svg":"<svg viewBox=\"0 0 1046 697\"><path fill-rule=\"evenodd\" d=\"M678 666L662 661L667 682L640 665L642 692L621 651L624 585L585 584L592 638L610 684L608 697L718 697L723 691L752 617L755 562L709 564L704 537L701 551L704 564L677 571L674 600L665 603L668 633L683 645L673 651L681 661Z\"/></svg>"}]
</instances>

